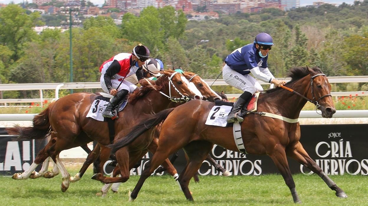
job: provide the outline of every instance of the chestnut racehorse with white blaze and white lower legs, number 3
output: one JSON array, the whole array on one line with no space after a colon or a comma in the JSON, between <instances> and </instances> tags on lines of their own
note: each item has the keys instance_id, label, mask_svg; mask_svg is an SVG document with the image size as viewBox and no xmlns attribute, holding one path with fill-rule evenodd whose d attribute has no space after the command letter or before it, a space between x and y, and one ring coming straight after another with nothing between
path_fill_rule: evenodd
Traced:
<instances>
[{"instance_id":1,"label":"chestnut racehorse with white blaze and white lower legs, number 3","mask_svg":"<svg viewBox=\"0 0 368 206\"><path fill-rule=\"evenodd\" d=\"M139 122L142 114L159 112L175 101L188 101L189 99L202 99L202 95L188 80L175 71L162 71L154 85L149 85L133 92L126 108L119 112L119 118L114 122L115 137L125 136L130 127ZM162 92L162 93L160 93ZM7 128L10 135L18 135L23 139L43 139L50 133L52 141L42 149L28 170L16 173L13 179L27 179L38 164L51 157L57 164L63 176L61 191L69 187L70 174L59 159L62 150L85 145L96 140L100 145L110 144L107 122L87 118L86 115L97 95L91 93L75 93L58 99L44 111L33 118L33 127ZM167 98L169 97L169 98ZM119 161L120 170L128 169L129 157L137 158L144 145L134 145L130 155ZM139 157L140 158L140 157ZM138 160L133 160L135 163ZM123 174L129 174L128 170ZM126 176L125 176L126 177ZM127 175L129 178L129 175Z\"/></svg>"}]
</instances>

